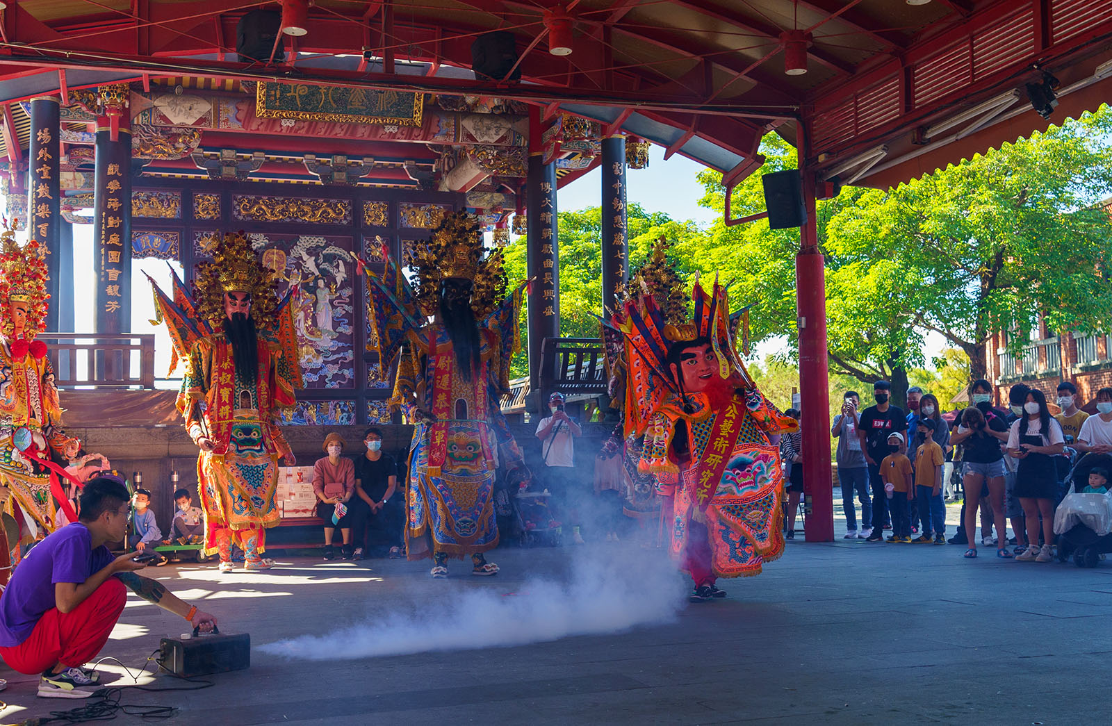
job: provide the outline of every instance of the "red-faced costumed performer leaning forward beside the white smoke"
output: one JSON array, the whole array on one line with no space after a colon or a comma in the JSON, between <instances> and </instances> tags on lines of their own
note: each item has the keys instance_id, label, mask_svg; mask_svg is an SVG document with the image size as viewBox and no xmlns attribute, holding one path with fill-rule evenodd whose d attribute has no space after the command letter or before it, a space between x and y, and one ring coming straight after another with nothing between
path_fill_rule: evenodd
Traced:
<instances>
[{"instance_id":1,"label":"red-faced costumed performer leaning forward beside the white smoke","mask_svg":"<svg viewBox=\"0 0 1112 726\"><path fill-rule=\"evenodd\" d=\"M756 575L783 554L783 471L772 436L794 430L735 349L724 287L685 286L662 239L614 324L625 335L626 432L644 435L638 468L671 497L669 550L692 601L723 597L718 577ZM671 514L669 514L671 513Z\"/></svg>"}]
</instances>

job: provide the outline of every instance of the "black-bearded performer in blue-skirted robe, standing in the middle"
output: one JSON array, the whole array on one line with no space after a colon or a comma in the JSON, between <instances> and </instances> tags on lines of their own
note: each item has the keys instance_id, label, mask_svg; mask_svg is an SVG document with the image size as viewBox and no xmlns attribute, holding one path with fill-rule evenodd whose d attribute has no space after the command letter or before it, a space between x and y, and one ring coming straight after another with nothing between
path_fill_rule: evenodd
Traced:
<instances>
[{"instance_id":1,"label":"black-bearded performer in blue-skirted robe, standing in the middle","mask_svg":"<svg viewBox=\"0 0 1112 726\"><path fill-rule=\"evenodd\" d=\"M522 467L499 399L509 360L520 348L519 286L508 297L502 252L484 257L483 235L466 212L447 216L417 245L413 289L397 266L371 271L368 319L383 371L397 368L391 404L415 424L406 486L406 551L433 557L433 577L448 558L471 557L473 575L495 575L483 553L498 546L495 470Z\"/></svg>"}]
</instances>

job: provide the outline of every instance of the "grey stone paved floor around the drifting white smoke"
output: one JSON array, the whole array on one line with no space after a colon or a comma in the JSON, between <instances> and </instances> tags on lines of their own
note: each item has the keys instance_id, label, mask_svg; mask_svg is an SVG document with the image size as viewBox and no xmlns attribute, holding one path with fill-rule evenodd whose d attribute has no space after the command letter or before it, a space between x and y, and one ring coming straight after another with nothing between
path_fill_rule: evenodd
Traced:
<instances>
[{"instance_id":1,"label":"grey stone paved floor around the drifting white smoke","mask_svg":"<svg viewBox=\"0 0 1112 726\"><path fill-rule=\"evenodd\" d=\"M627 543L588 547L604 559L644 555ZM986 549L965 560L962 549L796 540L762 576L719 583L728 598L684 607L663 624L356 660L287 660L256 648L249 670L214 676L211 688L130 692L125 702L178 706L169 723L203 726L1108 723L1112 560L1079 569L999 560ZM497 551L496 578L445 581L428 578L427 561L401 560L281 558L269 573L222 576L197 565L148 571L259 646L368 617L373 633L368 614L384 607L512 594L527 571L559 579L583 556L583 548L507 548ZM183 629L132 596L105 654L139 666L160 636ZM0 676L9 680L4 724L76 705L36 698L34 678L6 667Z\"/></svg>"}]
</instances>

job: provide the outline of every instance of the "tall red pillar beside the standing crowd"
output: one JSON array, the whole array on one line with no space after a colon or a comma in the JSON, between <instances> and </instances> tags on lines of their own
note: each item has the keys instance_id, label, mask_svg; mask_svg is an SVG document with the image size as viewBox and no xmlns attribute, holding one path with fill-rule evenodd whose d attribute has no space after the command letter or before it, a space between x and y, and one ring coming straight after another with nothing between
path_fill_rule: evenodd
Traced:
<instances>
[{"instance_id":1,"label":"tall red pillar beside the standing crowd","mask_svg":"<svg viewBox=\"0 0 1112 726\"><path fill-rule=\"evenodd\" d=\"M802 135L801 135L802 136ZM811 497L805 538L834 540L834 493L831 486L830 380L826 367L825 260L818 249L815 215L815 175L805 166L801 143L800 169L807 221L800 228L795 256L795 299L800 329L800 411L803 427L803 489Z\"/></svg>"}]
</instances>

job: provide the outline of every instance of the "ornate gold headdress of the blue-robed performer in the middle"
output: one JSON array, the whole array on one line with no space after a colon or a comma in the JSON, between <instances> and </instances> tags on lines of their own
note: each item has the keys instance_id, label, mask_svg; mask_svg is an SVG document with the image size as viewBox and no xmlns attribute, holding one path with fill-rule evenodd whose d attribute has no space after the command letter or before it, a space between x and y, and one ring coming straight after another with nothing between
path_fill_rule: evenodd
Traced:
<instances>
[{"instance_id":1,"label":"ornate gold headdress of the blue-robed performer in the middle","mask_svg":"<svg viewBox=\"0 0 1112 726\"><path fill-rule=\"evenodd\" d=\"M414 250L417 304L425 315L439 305L440 285L448 279L471 280L471 310L479 318L490 314L506 295L502 251L483 257L483 232L466 211L447 215Z\"/></svg>"}]
</instances>

